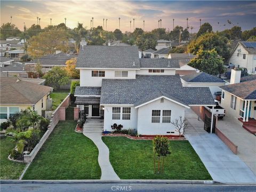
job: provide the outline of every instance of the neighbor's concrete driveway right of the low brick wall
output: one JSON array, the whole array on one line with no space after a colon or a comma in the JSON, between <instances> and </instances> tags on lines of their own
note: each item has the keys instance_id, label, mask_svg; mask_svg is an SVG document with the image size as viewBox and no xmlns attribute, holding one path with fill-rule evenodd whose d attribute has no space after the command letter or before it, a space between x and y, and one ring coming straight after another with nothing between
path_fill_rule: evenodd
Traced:
<instances>
[{"instance_id":1,"label":"neighbor's concrete driveway right of the low brick wall","mask_svg":"<svg viewBox=\"0 0 256 192\"><path fill-rule=\"evenodd\" d=\"M242 125L227 117L219 119L217 122L219 130L226 135L235 145L237 145L237 155L256 174L256 137L252 133L243 129Z\"/></svg>"}]
</instances>

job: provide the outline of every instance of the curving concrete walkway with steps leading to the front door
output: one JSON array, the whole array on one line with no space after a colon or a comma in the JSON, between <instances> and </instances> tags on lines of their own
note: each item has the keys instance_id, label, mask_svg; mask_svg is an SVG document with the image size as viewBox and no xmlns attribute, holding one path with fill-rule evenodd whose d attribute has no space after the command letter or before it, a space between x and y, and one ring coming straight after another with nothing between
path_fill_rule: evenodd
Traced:
<instances>
[{"instance_id":1,"label":"curving concrete walkway with steps leading to the front door","mask_svg":"<svg viewBox=\"0 0 256 192\"><path fill-rule=\"evenodd\" d=\"M83 134L91 139L99 150L98 162L101 169L101 180L120 180L109 162L109 149L101 139L103 119L88 118L83 127Z\"/></svg>"}]
</instances>

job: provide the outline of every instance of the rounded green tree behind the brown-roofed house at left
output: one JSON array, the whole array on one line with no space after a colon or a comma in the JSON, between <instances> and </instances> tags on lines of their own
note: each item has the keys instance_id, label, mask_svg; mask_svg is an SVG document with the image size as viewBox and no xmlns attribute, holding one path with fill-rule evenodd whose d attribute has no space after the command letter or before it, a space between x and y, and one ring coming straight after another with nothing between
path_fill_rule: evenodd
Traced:
<instances>
[{"instance_id":1,"label":"rounded green tree behind the brown-roofed house at left","mask_svg":"<svg viewBox=\"0 0 256 192\"><path fill-rule=\"evenodd\" d=\"M59 89L61 85L67 85L70 82L66 69L61 67L53 67L43 78L45 83L54 89Z\"/></svg>"}]
</instances>

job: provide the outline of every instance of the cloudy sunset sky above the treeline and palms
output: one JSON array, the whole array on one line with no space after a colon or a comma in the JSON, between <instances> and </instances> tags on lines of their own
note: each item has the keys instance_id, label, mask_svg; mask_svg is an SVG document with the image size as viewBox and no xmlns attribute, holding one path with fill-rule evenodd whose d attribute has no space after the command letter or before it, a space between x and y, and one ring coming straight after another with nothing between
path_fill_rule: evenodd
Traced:
<instances>
[{"instance_id":1,"label":"cloudy sunset sky above the treeline and palms","mask_svg":"<svg viewBox=\"0 0 256 192\"><path fill-rule=\"evenodd\" d=\"M199 19L202 23L210 22L213 30L223 30L234 25L243 30L256 26L255 1L1 1L1 25L10 22L23 29L37 23L41 18L41 27L58 25L65 22L74 28L77 22L90 28L90 20L94 18L94 27L103 26L103 18L108 19L107 30L118 28L118 18L121 18L121 30L130 31L130 20L135 19L135 27L152 30L158 27L162 19L162 27L172 30L174 26L193 26L193 32L199 29ZM232 23L228 24L227 20ZM219 22L219 24L218 24ZM238 24L237 24L238 23ZM224 26L226 25L226 26ZM133 24L132 24L133 28ZM191 31L189 29L189 31Z\"/></svg>"}]
</instances>

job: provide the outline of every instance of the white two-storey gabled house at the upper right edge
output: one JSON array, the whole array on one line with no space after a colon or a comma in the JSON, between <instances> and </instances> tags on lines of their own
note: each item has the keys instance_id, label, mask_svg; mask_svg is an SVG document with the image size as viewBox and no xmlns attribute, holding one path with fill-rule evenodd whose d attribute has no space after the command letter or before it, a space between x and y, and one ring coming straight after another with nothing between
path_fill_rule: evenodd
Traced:
<instances>
[{"instance_id":1,"label":"white two-storey gabled house at the upper right edge","mask_svg":"<svg viewBox=\"0 0 256 192\"><path fill-rule=\"evenodd\" d=\"M238 42L228 63L236 68L246 68L249 74L256 71L256 42Z\"/></svg>"}]
</instances>

